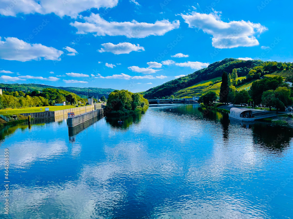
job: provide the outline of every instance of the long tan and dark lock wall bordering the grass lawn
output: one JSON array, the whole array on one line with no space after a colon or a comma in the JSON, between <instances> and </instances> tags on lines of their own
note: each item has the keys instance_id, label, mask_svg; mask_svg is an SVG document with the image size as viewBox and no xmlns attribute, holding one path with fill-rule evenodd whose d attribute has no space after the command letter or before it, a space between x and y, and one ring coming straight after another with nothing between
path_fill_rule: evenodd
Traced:
<instances>
[{"instance_id":1,"label":"long tan and dark lock wall bordering the grass lawn","mask_svg":"<svg viewBox=\"0 0 293 219\"><path fill-rule=\"evenodd\" d=\"M67 118L67 113L69 112L74 112L76 114L81 114L85 112L89 112L95 109L101 109L102 104L97 103L94 105L89 105L89 106L84 106L84 107L76 107L76 108L71 108L71 109L62 109L62 110L57 110L57 111L49 111L49 112L31 112L31 113L20 113L23 116L30 116L32 118L48 118L48 117L59 117L59 116L66 116Z\"/></svg>"}]
</instances>

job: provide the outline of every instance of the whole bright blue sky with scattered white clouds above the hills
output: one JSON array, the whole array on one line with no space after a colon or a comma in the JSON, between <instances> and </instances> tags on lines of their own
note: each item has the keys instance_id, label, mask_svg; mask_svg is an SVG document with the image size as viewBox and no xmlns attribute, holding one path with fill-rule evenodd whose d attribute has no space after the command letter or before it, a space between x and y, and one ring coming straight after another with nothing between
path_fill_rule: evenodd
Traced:
<instances>
[{"instance_id":1,"label":"whole bright blue sky with scattered white clouds above the hills","mask_svg":"<svg viewBox=\"0 0 293 219\"><path fill-rule=\"evenodd\" d=\"M292 6L0 0L0 82L138 92L224 58L292 62Z\"/></svg>"}]
</instances>

